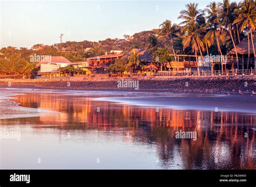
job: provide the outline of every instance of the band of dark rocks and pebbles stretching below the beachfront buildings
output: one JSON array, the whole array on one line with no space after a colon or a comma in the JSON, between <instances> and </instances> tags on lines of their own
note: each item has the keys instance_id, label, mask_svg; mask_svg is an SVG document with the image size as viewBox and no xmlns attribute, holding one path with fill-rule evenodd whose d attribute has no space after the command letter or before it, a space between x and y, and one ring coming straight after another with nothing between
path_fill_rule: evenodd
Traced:
<instances>
[{"instance_id":1,"label":"band of dark rocks and pebbles stretching below the beachfront buildings","mask_svg":"<svg viewBox=\"0 0 256 187\"><path fill-rule=\"evenodd\" d=\"M120 82L138 83L138 89L127 88ZM119 84L119 87L118 87ZM120 87L121 85L121 87ZM131 84L132 85L132 84ZM135 84L136 85L136 84ZM0 80L1 88L44 88L81 90L134 90L171 91L173 93L212 93L254 95L255 76L213 76L213 77L119 77L87 80Z\"/></svg>"}]
</instances>

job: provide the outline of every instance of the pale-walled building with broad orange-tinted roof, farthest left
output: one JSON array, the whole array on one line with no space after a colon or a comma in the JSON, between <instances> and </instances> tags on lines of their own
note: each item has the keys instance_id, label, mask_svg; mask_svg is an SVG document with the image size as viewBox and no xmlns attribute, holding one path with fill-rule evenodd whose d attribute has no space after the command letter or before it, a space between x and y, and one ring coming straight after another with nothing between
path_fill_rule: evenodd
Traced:
<instances>
[{"instance_id":1,"label":"pale-walled building with broad orange-tinted roof, farthest left","mask_svg":"<svg viewBox=\"0 0 256 187\"><path fill-rule=\"evenodd\" d=\"M65 76L61 75L59 68L67 67L71 62L63 56L50 56L37 63L36 68L40 68L38 75L42 77Z\"/></svg>"}]
</instances>

